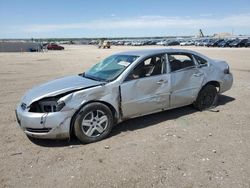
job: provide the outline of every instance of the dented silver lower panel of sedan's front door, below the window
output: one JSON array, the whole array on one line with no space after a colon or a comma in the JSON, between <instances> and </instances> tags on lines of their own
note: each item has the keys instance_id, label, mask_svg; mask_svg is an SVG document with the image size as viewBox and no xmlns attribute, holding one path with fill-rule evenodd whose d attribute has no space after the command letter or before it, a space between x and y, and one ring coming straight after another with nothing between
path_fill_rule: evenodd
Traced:
<instances>
[{"instance_id":1,"label":"dented silver lower panel of sedan's front door, below the window","mask_svg":"<svg viewBox=\"0 0 250 188\"><path fill-rule=\"evenodd\" d=\"M164 74L124 82L121 95L124 118L168 108L170 76Z\"/></svg>"}]
</instances>

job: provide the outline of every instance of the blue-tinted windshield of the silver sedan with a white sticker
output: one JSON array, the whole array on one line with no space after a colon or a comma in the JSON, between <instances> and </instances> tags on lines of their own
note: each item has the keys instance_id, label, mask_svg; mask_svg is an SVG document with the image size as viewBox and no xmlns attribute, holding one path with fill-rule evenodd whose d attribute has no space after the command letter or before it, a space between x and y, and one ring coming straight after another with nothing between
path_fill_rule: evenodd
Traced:
<instances>
[{"instance_id":1,"label":"blue-tinted windshield of the silver sedan with a white sticker","mask_svg":"<svg viewBox=\"0 0 250 188\"><path fill-rule=\"evenodd\" d=\"M99 81L114 80L138 57L132 55L112 55L86 71L84 77Z\"/></svg>"}]
</instances>

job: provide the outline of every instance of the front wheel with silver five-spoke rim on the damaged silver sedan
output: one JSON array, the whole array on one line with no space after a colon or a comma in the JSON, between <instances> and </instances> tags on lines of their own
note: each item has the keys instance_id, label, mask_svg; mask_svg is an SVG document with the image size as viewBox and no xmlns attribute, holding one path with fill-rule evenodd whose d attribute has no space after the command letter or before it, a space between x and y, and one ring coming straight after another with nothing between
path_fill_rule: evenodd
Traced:
<instances>
[{"instance_id":1,"label":"front wheel with silver five-spoke rim on the damaged silver sedan","mask_svg":"<svg viewBox=\"0 0 250 188\"><path fill-rule=\"evenodd\" d=\"M102 103L90 103L76 115L74 131L82 143L97 142L106 138L114 124L111 110Z\"/></svg>"}]
</instances>

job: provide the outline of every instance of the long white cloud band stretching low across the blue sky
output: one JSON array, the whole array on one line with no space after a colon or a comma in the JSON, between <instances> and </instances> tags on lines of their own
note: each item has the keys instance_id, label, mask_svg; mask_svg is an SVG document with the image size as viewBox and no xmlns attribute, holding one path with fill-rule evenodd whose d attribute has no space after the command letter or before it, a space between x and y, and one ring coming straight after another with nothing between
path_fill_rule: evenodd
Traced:
<instances>
[{"instance_id":1,"label":"long white cloud band stretching low across the blue sky","mask_svg":"<svg viewBox=\"0 0 250 188\"><path fill-rule=\"evenodd\" d=\"M193 28L216 28L237 27L250 28L250 14L229 15L221 18L216 17L167 17L167 16L140 16L134 18L116 18L91 20L84 23L72 24L35 24L23 28L27 33L44 33L62 30L108 30L108 29L193 29Z\"/></svg>"}]
</instances>

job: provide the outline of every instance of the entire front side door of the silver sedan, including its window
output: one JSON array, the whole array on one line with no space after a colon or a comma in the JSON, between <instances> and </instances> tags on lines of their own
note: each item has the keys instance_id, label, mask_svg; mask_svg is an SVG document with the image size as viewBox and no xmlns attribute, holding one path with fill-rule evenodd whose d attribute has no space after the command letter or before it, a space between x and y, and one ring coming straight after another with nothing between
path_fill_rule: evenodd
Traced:
<instances>
[{"instance_id":1,"label":"entire front side door of the silver sedan, including its window","mask_svg":"<svg viewBox=\"0 0 250 188\"><path fill-rule=\"evenodd\" d=\"M121 84L123 118L149 114L169 107L170 76L165 54L144 59Z\"/></svg>"}]
</instances>

